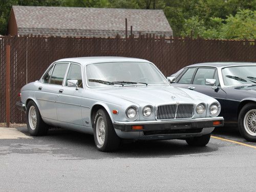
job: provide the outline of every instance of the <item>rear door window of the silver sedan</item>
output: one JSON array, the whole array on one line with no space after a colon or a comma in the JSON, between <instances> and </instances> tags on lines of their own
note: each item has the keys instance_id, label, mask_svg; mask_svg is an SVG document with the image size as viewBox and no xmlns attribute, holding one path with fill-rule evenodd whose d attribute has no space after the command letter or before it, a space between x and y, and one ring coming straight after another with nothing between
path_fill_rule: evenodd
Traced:
<instances>
[{"instance_id":1,"label":"rear door window of the silver sedan","mask_svg":"<svg viewBox=\"0 0 256 192\"><path fill-rule=\"evenodd\" d=\"M68 68L68 63L57 63L52 72L50 84L62 84L64 76Z\"/></svg>"}]
</instances>

